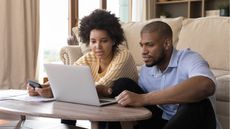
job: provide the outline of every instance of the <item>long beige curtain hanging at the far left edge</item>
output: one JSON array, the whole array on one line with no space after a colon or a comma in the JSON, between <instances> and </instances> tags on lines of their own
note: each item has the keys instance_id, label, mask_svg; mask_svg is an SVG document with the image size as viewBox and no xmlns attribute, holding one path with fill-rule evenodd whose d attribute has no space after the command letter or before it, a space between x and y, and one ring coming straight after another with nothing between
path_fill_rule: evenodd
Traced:
<instances>
[{"instance_id":1,"label":"long beige curtain hanging at the far left edge","mask_svg":"<svg viewBox=\"0 0 230 129\"><path fill-rule=\"evenodd\" d=\"M24 89L35 79L39 0L0 0L0 89Z\"/></svg>"}]
</instances>

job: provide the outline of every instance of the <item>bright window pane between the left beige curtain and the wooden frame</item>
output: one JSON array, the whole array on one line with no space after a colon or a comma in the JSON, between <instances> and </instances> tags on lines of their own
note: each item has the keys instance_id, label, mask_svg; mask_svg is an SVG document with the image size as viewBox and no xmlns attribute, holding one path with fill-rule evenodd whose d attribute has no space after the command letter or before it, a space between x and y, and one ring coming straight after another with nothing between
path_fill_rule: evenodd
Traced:
<instances>
[{"instance_id":1,"label":"bright window pane between the left beige curtain and the wooden frame","mask_svg":"<svg viewBox=\"0 0 230 129\"><path fill-rule=\"evenodd\" d=\"M39 80L46 76L44 63L61 62L59 52L67 37L68 1L40 0Z\"/></svg>"}]
</instances>

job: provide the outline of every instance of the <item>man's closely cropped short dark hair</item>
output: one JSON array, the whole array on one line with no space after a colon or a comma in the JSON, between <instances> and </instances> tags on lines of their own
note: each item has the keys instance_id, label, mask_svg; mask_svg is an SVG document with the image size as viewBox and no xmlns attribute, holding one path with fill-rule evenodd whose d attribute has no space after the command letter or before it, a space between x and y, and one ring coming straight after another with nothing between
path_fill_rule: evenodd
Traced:
<instances>
[{"instance_id":1,"label":"man's closely cropped short dark hair","mask_svg":"<svg viewBox=\"0 0 230 129\"><path fill-rule=\"evenodd\" d=\"M160 36L160 38L171 39L173 35L171 27L167 23L162 21L154 21L148 23L141 30L141 34L152 32L156 32Z\"/></svg>"}]
</instances>

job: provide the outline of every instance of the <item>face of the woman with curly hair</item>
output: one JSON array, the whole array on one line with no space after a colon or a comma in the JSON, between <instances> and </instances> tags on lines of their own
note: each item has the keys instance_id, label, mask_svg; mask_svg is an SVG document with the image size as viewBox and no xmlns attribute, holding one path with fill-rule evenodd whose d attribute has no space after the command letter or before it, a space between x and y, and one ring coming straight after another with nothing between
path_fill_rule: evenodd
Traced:
<instances>
[{"instance_id":1,"label":"face of the woman with curly hair","mask_svg":"<svg viewBox=\"0 0 230 129\"><path fill-rule=\"evenodd\" d=\"M111 59L113 55L113 41L105 30L91 30L89 46L100 60Z\"/></svg>"}]
</instances>

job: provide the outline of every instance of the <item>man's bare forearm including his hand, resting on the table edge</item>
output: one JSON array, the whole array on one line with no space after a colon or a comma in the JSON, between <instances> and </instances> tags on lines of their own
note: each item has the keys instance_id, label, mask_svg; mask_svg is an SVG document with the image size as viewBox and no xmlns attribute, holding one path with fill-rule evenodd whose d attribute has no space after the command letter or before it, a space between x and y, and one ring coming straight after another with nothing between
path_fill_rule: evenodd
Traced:
<instances>
[{"instance_id":1,"label":"man's bare forearm including his hand, resting on the table edge","mask_svg":"<svg viewBox=\"0 0 230 129\"><path fill-rule=\"evenodd\" d=\"M117 101L123 106L190 103L214 94L214 82L204 76L191 77L176 86L147 94L122 92Z\"/></svg>"}]
</instances>

